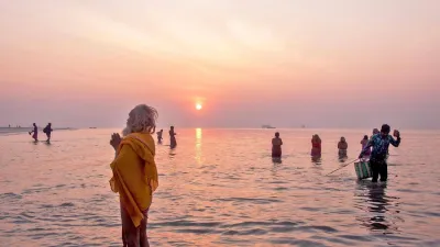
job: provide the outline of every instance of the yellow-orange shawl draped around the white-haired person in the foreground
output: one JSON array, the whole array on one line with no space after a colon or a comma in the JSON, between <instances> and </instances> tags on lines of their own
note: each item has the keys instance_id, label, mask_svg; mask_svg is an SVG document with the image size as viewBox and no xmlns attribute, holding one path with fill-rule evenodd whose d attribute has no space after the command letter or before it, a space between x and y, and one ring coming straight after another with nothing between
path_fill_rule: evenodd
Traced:
<instances>
[{"instance_id":1,"label":"yellow-orange shawl draped around the white-haired person in the foreground","mask_svg":"<svg viewBox=\"0 0 440 247\"><path fill-rule=\"evenodd\" d=\"M130 134L122 139L117 154L110 165L110 187L119 192L122 206L138 227L144 217L142 211L150 207L158 187L154 139L147 133Z\"/></svg>"}]
</instances>

